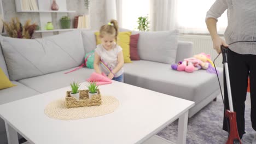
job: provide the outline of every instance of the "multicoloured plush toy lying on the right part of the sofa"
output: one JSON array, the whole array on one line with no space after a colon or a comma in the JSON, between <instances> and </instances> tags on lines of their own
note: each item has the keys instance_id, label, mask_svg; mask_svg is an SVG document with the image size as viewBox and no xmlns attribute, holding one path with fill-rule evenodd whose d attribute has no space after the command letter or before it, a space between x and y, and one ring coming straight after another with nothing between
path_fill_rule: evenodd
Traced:
<instances>
[{"instance_id":1,"label":"multicoloured plush toy lying on the right part of the sofa","mask_svg":"<svg viewBox=\"0 0 256 144\"><path fill-rule=\"evenodd\" d=\"M188 73L192 73L199 69L205 69L208 73L216 74L213 62L211 61L211 56L206 55L203 52L194 55L193 57L185 58L183 62L172 64L171 68L178 71L186 71Z\"/></svg>"}]
</instances>

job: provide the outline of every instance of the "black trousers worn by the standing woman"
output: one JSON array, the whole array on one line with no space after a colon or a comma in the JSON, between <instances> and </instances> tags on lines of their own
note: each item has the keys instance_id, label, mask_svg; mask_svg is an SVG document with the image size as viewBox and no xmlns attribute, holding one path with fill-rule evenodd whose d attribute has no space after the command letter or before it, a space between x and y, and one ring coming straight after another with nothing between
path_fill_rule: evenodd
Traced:
<instances>
[{"instance_id":1,"label":"black trousers worn by the standing woman","mask_svg":"<svg viewBox=\"0 0 256 144\"><path fill-rule=\"evenodd\" d=\"M234 111L236 112L237 129L240 139L245 134L245 100L250 78L251 91L251 121L256 130L256 55L241 55L228 50L229 77ZM224 101L229 110L228 91L224 69ZM225 114L223 130L228 131Z\"/></svg>"}]
</instances>

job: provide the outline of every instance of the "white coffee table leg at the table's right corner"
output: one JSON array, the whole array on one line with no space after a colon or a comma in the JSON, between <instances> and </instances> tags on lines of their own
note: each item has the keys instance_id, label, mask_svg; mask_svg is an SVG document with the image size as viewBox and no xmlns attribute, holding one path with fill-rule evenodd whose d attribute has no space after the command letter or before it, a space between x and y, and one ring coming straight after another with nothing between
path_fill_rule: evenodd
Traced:
<instances>
[{"instance_id":1,"label":"white coffee table leg at the table's right corner","mask_svg":"<svg viewBox=\"0 0 256 144\"><path fill-rule=\"evenodd\" d=\"M183 115L179 117L177 143L179 144L186 143L187 127L188 127L188 111L183 113Z\"/></svg>"}]
</instances>

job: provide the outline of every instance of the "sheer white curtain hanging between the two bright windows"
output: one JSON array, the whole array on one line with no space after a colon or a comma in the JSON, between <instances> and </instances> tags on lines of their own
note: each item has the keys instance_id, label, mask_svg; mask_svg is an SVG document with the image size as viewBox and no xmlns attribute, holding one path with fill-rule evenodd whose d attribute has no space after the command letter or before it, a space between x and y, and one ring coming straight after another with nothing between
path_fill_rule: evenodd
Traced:
<instances>
[{"instance_id":1,"label":"sheer white curtain hanging between the two bright windows","mask_svg":"<svg viewBox=\"0 0 256 144\"><path fill-rule=\"evenodd\" d=\"M177 27L177 0L150 0L150 30L167 31Z\"/></svg>"}]
</instances>

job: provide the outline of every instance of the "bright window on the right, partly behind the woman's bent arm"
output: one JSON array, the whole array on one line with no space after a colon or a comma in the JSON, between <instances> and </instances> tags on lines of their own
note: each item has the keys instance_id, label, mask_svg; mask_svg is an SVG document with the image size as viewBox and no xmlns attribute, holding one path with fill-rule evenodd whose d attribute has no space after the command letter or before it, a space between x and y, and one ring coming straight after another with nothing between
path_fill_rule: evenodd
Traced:
<instances>
[{"instance_id":1,"label":"bright window on the right, partly behind the woman's bent arm","mask_svg":"<svg viewBox=\"0 0 256 144\"><path fill-rule=\"evenodd\" d=\"M215 0L178 0L177 25L181 33L209 33L205 16L214 2ZM223 34L226 26L228 26L228 19L225 11L218 19L218 33Z\"/></svg>"}]
</instances>

